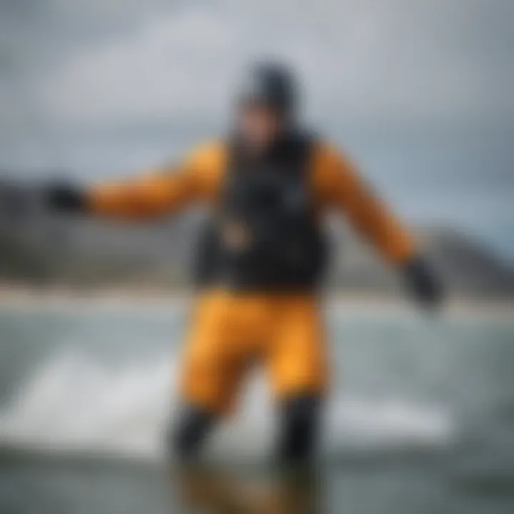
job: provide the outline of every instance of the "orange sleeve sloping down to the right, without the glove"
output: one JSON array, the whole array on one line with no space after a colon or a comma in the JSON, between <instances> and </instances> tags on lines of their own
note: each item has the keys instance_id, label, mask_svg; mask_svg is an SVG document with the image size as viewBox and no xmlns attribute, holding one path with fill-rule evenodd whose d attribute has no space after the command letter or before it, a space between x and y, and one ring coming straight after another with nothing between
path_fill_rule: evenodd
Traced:
<instances>
[{"instance_id":1,"label":"orange sleeve sloping down to the right, without the glove","mask_svg":"<svg viewBox=\"0 0 514 514\"><path fill-rule=\"evenodd\" d=\"M314 187L320 206L344 211L358 233L388 261L410 261L415 254L413 238L359 176L355 166L327 145L317 148L314 159Z\"/></svg>"}]
</instances>

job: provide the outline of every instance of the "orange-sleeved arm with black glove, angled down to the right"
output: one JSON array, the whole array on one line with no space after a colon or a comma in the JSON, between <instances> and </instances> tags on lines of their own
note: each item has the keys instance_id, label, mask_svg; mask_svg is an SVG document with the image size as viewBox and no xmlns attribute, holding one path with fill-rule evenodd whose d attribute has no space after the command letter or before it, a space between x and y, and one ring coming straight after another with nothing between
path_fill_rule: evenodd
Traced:
<instances>
[{"instance_id":1,"label":"orange-sleeved arm with black glove, angled down to the right","mask_svg":"<svg viewBox=\"0 0 514 514\"><path fill-rule=\"evenodd\" d=\"M356 230L405 276L415 296L424 303L438 303L440 283L420 255L413 237L359 176L355 166L328 146L316 153L315 188L319 201L346 213Z\"/></svg>"}]
</instances>

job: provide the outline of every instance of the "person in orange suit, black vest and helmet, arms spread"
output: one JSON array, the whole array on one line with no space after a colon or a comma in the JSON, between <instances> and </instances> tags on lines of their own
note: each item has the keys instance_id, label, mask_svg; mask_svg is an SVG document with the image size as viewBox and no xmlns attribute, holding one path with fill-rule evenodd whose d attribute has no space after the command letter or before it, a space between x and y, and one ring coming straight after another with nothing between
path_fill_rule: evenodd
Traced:
<instances>
[{"instance_id":1,"label":"person in orange suit, black vest and helmet, arms spread","mask_svg":"<svg viewBox=\"0 0 514 514\"><path fill-rule=\"evenodd\" d=\"M425 306L442 296L408 230L343 153L303 127L299 102L291 69L254 64L238 91L233 130L181 165L86 191L47 191L49 206L59 211L134 221L198 201L210 206L172 436L182 457L196 455L216 421L231 412L255 364L266 369L278 405L278 458L315 455L329 381L320 301L328 211L343 212Z\"/></svg>"}]
</instances>

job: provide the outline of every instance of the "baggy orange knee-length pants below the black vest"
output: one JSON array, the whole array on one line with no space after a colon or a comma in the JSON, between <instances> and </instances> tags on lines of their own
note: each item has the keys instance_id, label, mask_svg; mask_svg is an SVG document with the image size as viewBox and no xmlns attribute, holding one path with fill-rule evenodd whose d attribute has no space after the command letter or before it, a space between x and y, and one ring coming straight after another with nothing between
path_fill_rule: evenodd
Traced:
<instances>
[{"instance_id":1,"label":"baggy orange knee-length pants below the black vest","mask_svg":"<svg viewBox=\"0 0 514 514\"><path fill-rule=\"evenodd\" d=\"M198 301L186 343L183 398L231 410L248 368L263 363L278 398L326 388L326 345L315 296L211 291Z\"/></svg>"}]
</instances>

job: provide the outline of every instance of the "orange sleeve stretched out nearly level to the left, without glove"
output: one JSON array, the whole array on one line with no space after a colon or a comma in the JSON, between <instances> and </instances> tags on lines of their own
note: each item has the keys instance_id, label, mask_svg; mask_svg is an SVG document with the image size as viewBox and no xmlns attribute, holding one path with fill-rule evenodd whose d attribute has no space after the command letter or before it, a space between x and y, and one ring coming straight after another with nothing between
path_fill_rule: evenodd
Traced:
<instances>
[{"instance_id":1,"label":"orange sleeve stretched out nearly level to the left, without glove","mask_svg":"<svg viewBox=\"0 0 514 514\"><path fill-rule=\"evenodd\" d=\"M194 151L180 166L167 166L119 183L106 183L86 193L87 211L97 216L145 220L178 211L216 195L223 148L211 144Z\"/></svg>"}]
</instances>

